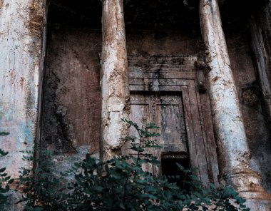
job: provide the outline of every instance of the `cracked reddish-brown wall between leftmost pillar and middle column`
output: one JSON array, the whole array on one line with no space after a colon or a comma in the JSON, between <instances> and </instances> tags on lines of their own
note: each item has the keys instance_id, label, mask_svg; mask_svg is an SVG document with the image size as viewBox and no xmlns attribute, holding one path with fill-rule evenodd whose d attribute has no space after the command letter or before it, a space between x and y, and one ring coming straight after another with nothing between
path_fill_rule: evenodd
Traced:
<instances>
[{"instance_id":1,"label":"cracked reddish-brown wall between leftmost pillar and middle column","mask_svg":"<svg viewBox=\"0 0 271 211\"><path fill-rule=\"evenodd\" d=\"M99 153L100 52L98 31L55 29L48 35L41 149L53 151L57 165Z\"/></svg>"}]
</instances>

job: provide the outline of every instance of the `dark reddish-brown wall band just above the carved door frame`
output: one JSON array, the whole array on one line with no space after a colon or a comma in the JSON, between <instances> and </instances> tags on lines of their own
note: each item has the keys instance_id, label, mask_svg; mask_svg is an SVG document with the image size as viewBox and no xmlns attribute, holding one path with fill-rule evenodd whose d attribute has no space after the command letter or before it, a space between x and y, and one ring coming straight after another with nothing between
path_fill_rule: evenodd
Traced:
<instances>
[{"instance_id":1,"label":"dark reddish-brown wall band just above the carved door frame","mask_svg":"<svg viewBox=\"0 0 271 211\"><path fill-rule=\"evenodd\" d=\"M196 33L168 31L160 38L155 38L154 31L127 31L126 34L128 55L204 56L200 29Z\"/></svg>"}]
</instances>

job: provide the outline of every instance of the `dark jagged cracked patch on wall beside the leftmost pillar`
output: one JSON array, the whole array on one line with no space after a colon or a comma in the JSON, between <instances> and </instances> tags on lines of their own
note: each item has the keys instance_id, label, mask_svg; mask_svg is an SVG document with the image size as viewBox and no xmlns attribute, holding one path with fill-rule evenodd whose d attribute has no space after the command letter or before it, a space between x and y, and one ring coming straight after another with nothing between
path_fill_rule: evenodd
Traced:
<instances>
[{"instance_id":1,"label":"dark jagged cracked patch on wall beside the leftmost pillar","mask_svg":"<svg viewBox=\"0 0 271 211\"><path fill-rule=\"evenodd\" d=\"M58 101L56 91L60 78L46 66L46 86L44 90L44 118L41 138L45 148L54 153L77 153L73 145L73 133L66 120L66 109ZM53 148L52 148L53 146Z\"/></svg>"}]
</instances>

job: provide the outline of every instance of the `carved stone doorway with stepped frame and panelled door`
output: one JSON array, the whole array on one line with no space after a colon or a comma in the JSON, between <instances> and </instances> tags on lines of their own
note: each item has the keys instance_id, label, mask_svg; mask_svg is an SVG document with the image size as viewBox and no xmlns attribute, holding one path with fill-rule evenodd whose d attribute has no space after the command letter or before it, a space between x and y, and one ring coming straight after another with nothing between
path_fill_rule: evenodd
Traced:
<instances>
[{"instance_id":1,"label":"carved stone doorway with stepped frame and panelled door","mask_svg":"<svg viewBox=\"0 0 271 211\"><path fill-rule=\"evenodd\" d=\"M189 163L203 182L218 179L218 161L203 70L196 67L197 56L128 56L131 114L142 127L155 123L156 138L162 146L150 153L160 160ZM200 86L199 86L200 84ZM136 136L136 130L129 129ZM131 154L129 145L123 147ZM186 162L186 163L182 163ZM146 166L161 174L163 166Z\"/></svg>"}]
</instances>

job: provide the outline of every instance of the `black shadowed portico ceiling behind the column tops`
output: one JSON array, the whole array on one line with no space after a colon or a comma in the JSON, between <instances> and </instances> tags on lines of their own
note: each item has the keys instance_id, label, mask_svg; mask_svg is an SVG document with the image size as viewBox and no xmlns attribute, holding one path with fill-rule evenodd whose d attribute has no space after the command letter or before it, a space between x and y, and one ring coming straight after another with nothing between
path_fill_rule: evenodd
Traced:
<instances>
[{"instance_id":1,"label":"black shadowed portico ceiling behind the column tops","mask_svg":"<svg viewBox=\"0 0 271 211\"><path fill-rule=\"evenodd\" d=\"M220 0L225 28L245 27L265 0ZM126 29L196 30L198 0L124 0ZM61 28L101 29L101 0L51 0L48 24Z\"/></svg>"}]
</instances>

